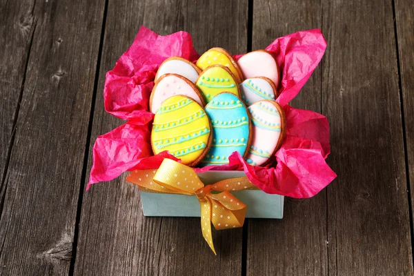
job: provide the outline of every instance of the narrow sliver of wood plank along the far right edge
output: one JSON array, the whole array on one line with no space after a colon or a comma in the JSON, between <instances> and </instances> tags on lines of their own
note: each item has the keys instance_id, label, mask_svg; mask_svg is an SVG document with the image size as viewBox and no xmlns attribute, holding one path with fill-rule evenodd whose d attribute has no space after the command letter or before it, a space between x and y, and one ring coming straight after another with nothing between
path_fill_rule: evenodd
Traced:
<instances>
[{"instance_id":1,"label":"narrow sliver of wood plank along the far right edge","mask_svg":"<svg viewBox=\"0 0 414 276\"><path fill-rule=\"evenodd\" d=\"M411 210L414 201L414 5L412 1L395 0L395 24L400 63L408 179L411 185ZM413 213L411 213L413 216ZM413 217L414 218L414 217ZM413 229L411 229L413 231Z\"/></svg>"}]
</instances>

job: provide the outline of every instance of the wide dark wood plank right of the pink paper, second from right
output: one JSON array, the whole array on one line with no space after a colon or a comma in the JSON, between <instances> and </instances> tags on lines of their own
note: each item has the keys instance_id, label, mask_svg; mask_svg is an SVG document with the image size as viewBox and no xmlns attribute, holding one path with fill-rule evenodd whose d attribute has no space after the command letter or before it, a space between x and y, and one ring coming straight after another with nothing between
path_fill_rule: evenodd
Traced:
<instances>
[{"instance_id":1,"label":"wide dark wood plank right of the pink paper, second from right","mask_svg":"<svg viewBox=\"0 0 414 276\"><path fill-rule=\"evenodd\" d=\"M324 1L330 275L413 275L392 2ZM412 33L412 32L411 32Z\"/></svg>"}]
</instances>

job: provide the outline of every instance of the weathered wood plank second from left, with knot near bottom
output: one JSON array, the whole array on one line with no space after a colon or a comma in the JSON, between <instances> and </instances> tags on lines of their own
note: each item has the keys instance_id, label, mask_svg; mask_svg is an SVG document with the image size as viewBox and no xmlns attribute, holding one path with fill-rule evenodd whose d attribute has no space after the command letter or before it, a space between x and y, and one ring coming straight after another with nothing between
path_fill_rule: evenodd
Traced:
<instances>
[{"instance_id":1,"label":"weathered wood plank second from left, with knot near bottom","mask_svg":"<svg viewBox=\"0 0 414 276\"><path fill-rule=\"evenodd\" d=\"M0 274L66 275L103 1L37 1L27 10L8 34L21 37L36 22L2 198Z\"/></svg>"}]
</instances>

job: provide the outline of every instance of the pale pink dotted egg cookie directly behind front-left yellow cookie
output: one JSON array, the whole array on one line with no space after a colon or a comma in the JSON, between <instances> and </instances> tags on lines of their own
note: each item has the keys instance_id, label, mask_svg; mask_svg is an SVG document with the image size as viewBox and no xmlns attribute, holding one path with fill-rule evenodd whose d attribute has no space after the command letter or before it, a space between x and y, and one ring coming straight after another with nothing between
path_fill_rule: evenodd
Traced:
<instances>
[{"instance_id":1,"label":"pale pink dotted egg cookie directly behind front-left yellow cookie","mask_svg":"<svg viewBox=\"0 0 414 276\"><path fill-rule=\"evenodd\" d=\"M166 99L175 95L184 95L197 101L204 108L203 96L194 83L177 74L165 74L159 77L150 97L150 111L156 113Z\"/></svg>"}]
</instances>

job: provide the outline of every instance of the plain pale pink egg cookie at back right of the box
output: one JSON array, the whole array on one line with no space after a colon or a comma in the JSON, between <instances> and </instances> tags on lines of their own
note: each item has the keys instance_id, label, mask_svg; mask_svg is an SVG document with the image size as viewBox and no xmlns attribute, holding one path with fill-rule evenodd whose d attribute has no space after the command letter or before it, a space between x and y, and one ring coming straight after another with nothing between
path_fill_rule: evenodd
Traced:
<instances>
[{"instance_id":1,"label":"plain pale pink egg cookie at back right of the box","mask_svg":"<svg viewBox=\"0 0 414 276\"><path fill-rule=\"evenodd\" d=\"M253 77L268 77L279 86L280 71L275 58L270 52L266 50L257 50L249 52L241 57L237 64L242 69L243 75L246 79Z\"/></svg>"}]
</instances>

